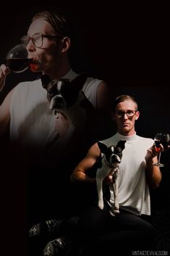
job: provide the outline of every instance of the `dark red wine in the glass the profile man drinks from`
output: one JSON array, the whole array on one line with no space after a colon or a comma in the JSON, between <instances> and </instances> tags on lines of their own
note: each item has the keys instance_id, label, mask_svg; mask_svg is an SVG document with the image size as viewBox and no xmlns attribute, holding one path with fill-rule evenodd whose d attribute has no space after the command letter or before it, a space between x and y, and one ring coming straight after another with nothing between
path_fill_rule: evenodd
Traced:
<instances>
[{"instance_id":1,"label":"dark red wine in the glass the profile man drinks from","mask_svg":"<svg viewBox=\"0 0 170 256\"><path fill-rule=\"evenodd\" d=\"M22 72L29 67L32 59L6 59L7 66L13 72Z\"/></svg>"}]
</instances>

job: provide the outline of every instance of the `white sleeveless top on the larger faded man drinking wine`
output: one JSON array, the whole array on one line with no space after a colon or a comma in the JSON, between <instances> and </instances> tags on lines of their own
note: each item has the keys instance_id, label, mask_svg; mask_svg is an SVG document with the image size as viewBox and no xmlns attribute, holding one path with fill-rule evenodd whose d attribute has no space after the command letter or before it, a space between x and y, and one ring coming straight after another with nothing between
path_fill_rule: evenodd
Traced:
<instances>
[{"instance_id":1,"label":"white sleeveless top on the larger faded man drinking wine","mask_svg":"<svg viewBox=\"0 0 170 256\"><path fill-rule=\"evenodd\" d=\"M69 70L63 78L74 79L76 76L73 70ZM94 107L100 83L101 80L88 78L82 87L82 91ZM61 145L64 146L64 141L59 140L56 117L53 111L49 110L46 94L41 79L19 83L12 94L10 137L12 140L19 140L23 146L30 146L30 152L33 146L38 146L38 150L42 151L47 148L54 150L55 147L60 149ZM58 150L58 156L59 153Z\"/></svg>"}]
</instances>

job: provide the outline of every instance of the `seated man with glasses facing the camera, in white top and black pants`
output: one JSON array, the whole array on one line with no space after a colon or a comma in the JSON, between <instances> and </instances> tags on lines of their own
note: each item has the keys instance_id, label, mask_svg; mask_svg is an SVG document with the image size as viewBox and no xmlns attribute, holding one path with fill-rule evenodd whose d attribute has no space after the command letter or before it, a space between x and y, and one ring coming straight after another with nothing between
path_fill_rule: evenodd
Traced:
<instances>
[{"instance_id":1,"label":"seated man with glasses facing the camera, in white top and black pants","mask_svg":"<svg viewBox=\"0 0 170 256\"><path fill-rule=\"evenodd\" d=\"M135 122L139 116L137 102L132 96L122 95L116 98L112 117L117 132L102 142L106 146L111 146L120 140L127 141L122 152L122 162L119 164L119 214L115 217L110 215L106 197L103 210L98 208L96 198L96 205L83 212L78 237L80 243L84 241L84 247L87 247L85 255L89 255L88 249L91 250L92 247L93 255L109 255L113 251L119 252L119 255L132 255L134 250L149 249L150 242L153 241L153 226L146 221L150 215L149 189L156 189L159 186L161 171L153 165L157 162L158 154L153 139L136 134ZM90 147L86 157L75 168L71 176L72 182L95 187L96 181L90 172L100 157L101 151L96 143ZM111 182L112 177L106 177L105 184Z\"/></svg>"}]
</instances>

